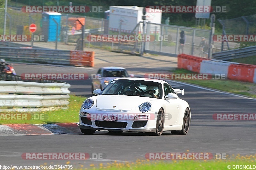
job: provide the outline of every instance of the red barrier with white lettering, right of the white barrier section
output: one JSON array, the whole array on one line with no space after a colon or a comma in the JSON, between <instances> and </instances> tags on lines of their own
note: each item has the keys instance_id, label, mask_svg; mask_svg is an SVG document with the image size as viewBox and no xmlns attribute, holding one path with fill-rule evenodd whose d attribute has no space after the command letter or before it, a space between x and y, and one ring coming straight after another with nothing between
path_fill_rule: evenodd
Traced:
<instances>
[{"instance_id":1,"label":"red barrier with white lettering, right of the white barrier section","mask_svg":"<svg viewBox=\"0 0 256 170\"><path fill-rule=\"evenodd\" d=\"M256 65L230 64L228 67L228 79L253 83L254 69L256 69Z\"/></svg>"}]
</instances>

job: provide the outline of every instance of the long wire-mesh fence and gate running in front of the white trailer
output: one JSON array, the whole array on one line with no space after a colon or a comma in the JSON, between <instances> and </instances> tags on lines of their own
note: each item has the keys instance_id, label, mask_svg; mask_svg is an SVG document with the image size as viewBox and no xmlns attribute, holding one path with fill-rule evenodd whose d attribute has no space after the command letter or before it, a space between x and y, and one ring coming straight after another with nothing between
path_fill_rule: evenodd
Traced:
<instances>
[{"instance_id":1,"label":"long wire-mesh fence and gate running in front of the white trailer","mask_svg":"<svg viewBox=\"0 0 256 170\"><path fill-rule=\"evenodd\" d=\"M4 16L4 10L0 10L0 15ZM81 49L82 40L82 25L84 24L84 47L89 48L102 48L107 50L119 50L127 52L140 53L144 47L145 52L153 51L156 54L179 54L185 53L189 55L196 55L207 57L208 55L208 44L210 38L210 30L184 27L184 26L173 26L168 24L154 24L146 23L146 34L148 35L169 35L172 37L171 41L152 41L145 42L143 46L142 42L90 42L87 40L87 36L90 35L140 35L143 27L143 23L137 24L133 31L122 31L121 29L108 30L108 19L93 18L88 16L79 16L73 14L61 14L60 22L57 28L56 23L52 21L52 25L47 25L44 22L44 15L42 13L24 13L19 8L8 8L8 16L6 23L6 34L12 35L29 35L29 25L35 23L37 30L35 35L44 35L45 30L49 31L53 37L56 37L56 30L58 30L58 43L66 43L70 45L76 45L76 49ZM56 19L56 18L55 18ZM80 22L77 20L79 19ZM4 25L4 17L0 18L0 24ZM9 33L11 30L11 33ZM185 45L180 48L180 32L184 31L186 36ZM3 34L3 27L0 28L1 34ZM204 40L202 39L204 37ZM56 40L56 38L55 38ZM54 41L47 39L46 41ZM221 50L221 42L214 42L214 52Z\"/></svg>"}]
</instances>

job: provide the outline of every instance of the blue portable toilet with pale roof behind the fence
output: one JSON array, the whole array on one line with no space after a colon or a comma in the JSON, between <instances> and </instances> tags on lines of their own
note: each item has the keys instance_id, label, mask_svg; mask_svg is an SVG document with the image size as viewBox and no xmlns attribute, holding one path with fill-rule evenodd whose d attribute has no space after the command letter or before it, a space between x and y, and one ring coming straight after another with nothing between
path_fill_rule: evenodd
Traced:
<instances>
[{"instance_id":1,"label":"blue portable toilet with pale roof behind the fence","mask_svg":"<svg viewBox=\"0 0 256 170\"><path fill-rule=\"evenodd\" d=\"M58 12L43 12L42 13L42 35L44 35L44 41L56 41L57 24L58 23L58 41L60 41L60 22L61 13Z\"/></svg>"}]
</instances>

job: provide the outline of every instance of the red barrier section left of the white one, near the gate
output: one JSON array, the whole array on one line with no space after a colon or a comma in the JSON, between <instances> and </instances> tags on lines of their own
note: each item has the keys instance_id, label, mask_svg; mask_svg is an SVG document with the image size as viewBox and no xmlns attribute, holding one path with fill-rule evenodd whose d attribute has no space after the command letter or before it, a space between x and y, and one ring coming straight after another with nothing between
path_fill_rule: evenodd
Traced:
<instances>
[{"instance_id":1,"label":"red barrier section left of the white one, near the gate","mask_svg":"<svg viewBox=\"0 0 256 170\"><path fill-rule=\"evenodd\" d=\"M200 72L200 65L203 60L208 60L202 57L196 57L192 55L179 54L178 55L178 68L186 69L190 71Z\"/></svg>"}]
</instances>

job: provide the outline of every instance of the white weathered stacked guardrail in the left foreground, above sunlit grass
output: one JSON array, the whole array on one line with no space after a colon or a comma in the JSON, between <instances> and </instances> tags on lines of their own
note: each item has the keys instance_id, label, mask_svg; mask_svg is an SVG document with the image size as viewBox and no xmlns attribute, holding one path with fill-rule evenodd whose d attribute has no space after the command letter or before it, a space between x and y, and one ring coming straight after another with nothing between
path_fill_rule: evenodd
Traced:
<instances>
[{"instance_id":1,"label":"white weathered stacked guardrail in the left foreground, above sunlit grass","mask_svg":"<svg viewBox=\"0 0 256 170\"><path fill-rule=\"evenodd\" d=\"M0 81L0 112L53 110L69 104L67 83ZM11 107L11 108L10 108Z\"/></svg>"}]
</instances>

